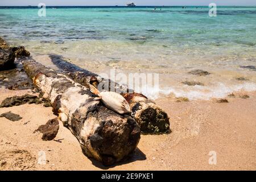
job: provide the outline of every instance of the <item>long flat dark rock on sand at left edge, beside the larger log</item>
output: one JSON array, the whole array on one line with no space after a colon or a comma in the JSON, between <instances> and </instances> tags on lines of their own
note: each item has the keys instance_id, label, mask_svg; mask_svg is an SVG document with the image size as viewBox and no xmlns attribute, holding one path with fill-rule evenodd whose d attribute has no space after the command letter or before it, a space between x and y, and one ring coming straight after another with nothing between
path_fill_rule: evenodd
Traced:
<instances>
[{"instance_id":1,"label":"long flat dark rock on sand at left edge, beside the larger log","mask_svg":"<svg viewBox=\"0 0 256 182\"><path fill-rule=\"evenodd\" d=\"M0 107L12 107L23 104L42 104L42 101L37 96L26 94L24 96L8 97L2 101Z\"/></svg>"}]
</instances>

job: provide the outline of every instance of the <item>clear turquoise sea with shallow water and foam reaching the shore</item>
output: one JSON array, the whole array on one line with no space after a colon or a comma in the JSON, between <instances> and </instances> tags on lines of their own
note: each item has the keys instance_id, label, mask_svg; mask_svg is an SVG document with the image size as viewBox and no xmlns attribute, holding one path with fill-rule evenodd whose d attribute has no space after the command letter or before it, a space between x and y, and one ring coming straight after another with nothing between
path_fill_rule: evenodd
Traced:
<instances>
[{"instance_id":1,"label":"clear turquoise sea with shallow water and foam reaching the shore","mask_svg":"<svg viewBox=\"0 0 256 182\"><path fill-rule=\"evenodd\" d=\"M55 53L96 73L159 73L152 98L256 90L256 7L219 6L216 17L207 6L47 7L46 17L38 10L0 7L0 36L46 63ZM188 74L193 69L212 74Z\"/></svg>"}]
</instances>

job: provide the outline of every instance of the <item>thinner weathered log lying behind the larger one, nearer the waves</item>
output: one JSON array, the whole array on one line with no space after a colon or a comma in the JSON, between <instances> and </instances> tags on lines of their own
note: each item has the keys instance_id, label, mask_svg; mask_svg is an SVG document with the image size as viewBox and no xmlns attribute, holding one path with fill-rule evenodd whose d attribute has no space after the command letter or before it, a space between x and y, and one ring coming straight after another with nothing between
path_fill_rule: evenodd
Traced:
<instances>
[{"instance_id":1,"label":"thinner weathered log lying behind the larger one, nearer the waves","mask_svg":"<svg viewBox=\"0 0 256 182\"><path fill-rule=\"evenodd\" d=\"M115 92L121 93L129 102L134 118L142 133L160 134L170 131L170 122L167 113L153 101L148 100L143 94L134 93L133 90L132 92L128 92L129 88L127 86L113 83L109 79L104 79L95 73L68 63L59 55L50 55L50 57L52 63L57 65L61 71L64 71L63 73L65 75L86 86L86 88L89 88L89 84L96 87L100 85L100 88L103 90L115 90Z\"/></svg>"}]
</instances>

